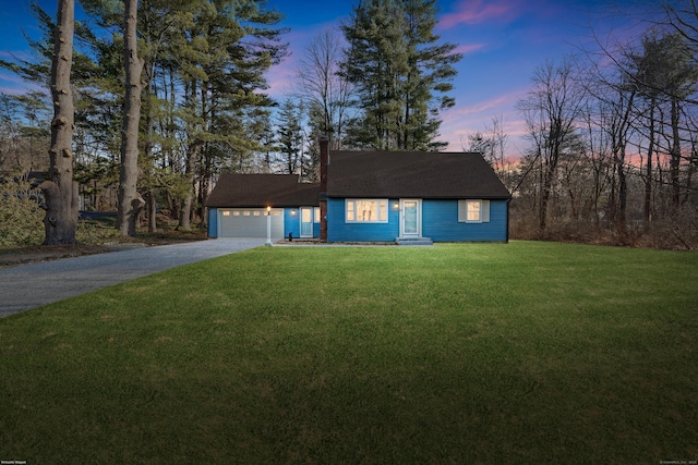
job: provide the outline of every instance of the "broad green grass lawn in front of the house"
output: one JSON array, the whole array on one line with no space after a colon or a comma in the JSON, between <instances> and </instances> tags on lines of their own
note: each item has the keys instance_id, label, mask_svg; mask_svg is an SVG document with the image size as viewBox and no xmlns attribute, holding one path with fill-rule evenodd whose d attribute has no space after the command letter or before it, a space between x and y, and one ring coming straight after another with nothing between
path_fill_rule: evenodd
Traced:
<instances>
[{"instance_id":1,"label":"broad green grass lawn in front of the house","mask_svg":"<svg viewBox=\"0 0 698 465\"><path fill-rule=\"evenodd\" d=\"M0 320L0 460L698 458L698 255L263 247Z\"/></svg>"}]
</instances>

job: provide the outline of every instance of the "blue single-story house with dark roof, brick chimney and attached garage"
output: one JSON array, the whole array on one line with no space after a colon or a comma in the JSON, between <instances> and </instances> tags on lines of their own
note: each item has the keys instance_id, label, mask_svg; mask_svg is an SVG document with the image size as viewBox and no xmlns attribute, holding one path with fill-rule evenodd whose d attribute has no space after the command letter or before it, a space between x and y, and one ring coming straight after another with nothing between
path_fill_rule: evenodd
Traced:
<instances>
[{"instance_id":1,"label":"blue single-story house with dark roof, brick chimney and attached garage","mask_svg":"<svg viewBox=\"0 0 698 465\"><path fill-rule=\"evenodd\" d=\"M210 237L327 242L507 242L510 194L480 154L334 151L321 182L224 174L208 198Z\"/></svg>"}]
</instances>

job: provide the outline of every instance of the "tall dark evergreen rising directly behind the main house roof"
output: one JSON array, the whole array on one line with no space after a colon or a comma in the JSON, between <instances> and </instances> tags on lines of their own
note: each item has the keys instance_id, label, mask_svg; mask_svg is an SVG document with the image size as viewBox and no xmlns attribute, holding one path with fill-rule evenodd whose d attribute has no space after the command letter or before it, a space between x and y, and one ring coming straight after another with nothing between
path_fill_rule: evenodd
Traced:
<instances>
[{"instance_id":1,"label":"tall dark evergreen rising directly behind the main house roof","mask_svg":"<svg viewBox=\"0 0 698 465\"><path fill-rule=\"evenodd\" d=\"M348 140L380 150L433 150L438 112L455 105L454 64L462 57L434 35L436 0L368 0L342 26L341 74L357 86L359 118ZM438 93L438 95L436 95Z\"/></svg>"}]
</instances>

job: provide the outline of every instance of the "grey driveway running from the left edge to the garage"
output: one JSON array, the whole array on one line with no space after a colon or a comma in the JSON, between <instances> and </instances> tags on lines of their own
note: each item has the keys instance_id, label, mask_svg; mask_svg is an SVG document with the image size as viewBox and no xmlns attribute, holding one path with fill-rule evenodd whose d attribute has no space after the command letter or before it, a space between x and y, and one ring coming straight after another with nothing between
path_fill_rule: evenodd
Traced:
<instances>
[{"instance_id":1,"label":"grey driveway running from the left edge to the garage","mask_svg":"<svg viewBox=\"0 0 698 465\"><path fill-rule=\"evenodd\" d=\"M217 238L2 268L0 318L264 243L264 238Z\"/></svg>"}]
</instances>

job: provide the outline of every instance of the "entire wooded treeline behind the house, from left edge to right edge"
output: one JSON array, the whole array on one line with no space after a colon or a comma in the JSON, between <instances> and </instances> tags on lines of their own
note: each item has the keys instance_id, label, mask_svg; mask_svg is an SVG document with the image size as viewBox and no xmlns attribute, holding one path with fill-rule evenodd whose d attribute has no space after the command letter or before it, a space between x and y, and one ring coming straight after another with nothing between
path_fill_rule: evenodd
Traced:
<instances>
[{"instance_id":1,"label":"entire wooded treeline behind the house, from left edge to right edge","mask_svg":"<svg viewBox=\"0 0 698 465\"><path fill-rule=\"evenodd\" d=\"M128 3L135 0L80 1L88 20L75 23L71 89L82 209L120 204ZM287 54L287 30L282 12L265 4L137 2L132 53L142 70L130 84L141 97L137 192L129 205L143 203L151 231L158 209L182 229L205 225L206 196L222 171L315 180L321 135L333 149L445 146L440 114L454 106L461 56L434 34L436 0L359 2L310 42L282 101L265 94L265 76ZM636 36L621 42L610 35L538 66L517 106L529 139L519 157L497 118L464 140L513 193L512 237L697 246L698 13L689 0L643 4ZM27 37L35 59L0 61L34 89L0 95L5 172L48 170L56 24L32 8L44 32Z\"/></svg>"}]
</instances>

